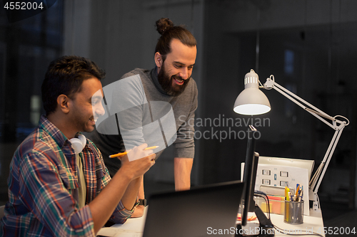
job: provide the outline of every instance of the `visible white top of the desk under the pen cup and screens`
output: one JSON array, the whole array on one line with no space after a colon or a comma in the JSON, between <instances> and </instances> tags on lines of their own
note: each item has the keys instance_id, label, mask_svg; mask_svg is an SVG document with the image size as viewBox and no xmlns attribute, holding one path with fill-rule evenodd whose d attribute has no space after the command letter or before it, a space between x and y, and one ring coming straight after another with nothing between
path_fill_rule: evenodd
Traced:
<instances>
[{"instance_id":1,"label":"visible white top of the desk under the pen cup and screens","mask_svg":"<svg viewBox=\"0 0 357 237\"><path fill-rule=\"evenodd\" d=\"M141 237L144 231L145 218L147 208L144 211L144 216L140 218L129 218L124 224L115 224L111 227L101 228L99 235L101 236L113 236L113 237ZM321 211L311 211L310 216L303 216L303 223L299 225L292 225L283 221L283 215L271 214L271 222L278 228L282 228L285 233L298 233L305 234L305 236L311 236L311 233L323 234L323 218ZM251 221L257 223L257 221ZM276 231L276 236L286 236L283 231Z\"/></svg>"}]
</instances>

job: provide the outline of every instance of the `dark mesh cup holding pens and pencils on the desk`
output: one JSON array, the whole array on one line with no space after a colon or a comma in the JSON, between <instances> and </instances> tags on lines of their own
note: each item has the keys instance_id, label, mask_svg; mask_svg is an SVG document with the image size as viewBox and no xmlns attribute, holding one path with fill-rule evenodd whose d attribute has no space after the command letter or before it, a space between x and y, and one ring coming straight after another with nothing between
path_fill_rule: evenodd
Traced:
<instances>
[{"instance_id":1,"label":"dark mesh cup holding pens and pencils on the desk","mask_svg":"<svg viewBox=\"0 0 357 237\"><path fill-rule=\"evenodd\" d=\"M285 201L284 222L303 223L303 201Z\"/></svg>"}]
</instances>

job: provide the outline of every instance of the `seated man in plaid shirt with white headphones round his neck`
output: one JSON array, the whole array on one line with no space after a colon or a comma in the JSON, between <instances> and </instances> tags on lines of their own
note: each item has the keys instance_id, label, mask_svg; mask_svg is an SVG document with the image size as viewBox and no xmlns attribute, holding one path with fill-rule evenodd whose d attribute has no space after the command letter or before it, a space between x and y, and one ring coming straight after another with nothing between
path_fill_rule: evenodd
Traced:
<instances>
[{"instance_id":1,"label":"seated man in plaid shirt with white headphones round his neck","mask_svg":"<svg viewBox=\"0 0 357 237\"><path fill-rule=\"evenodd\" d=\"M124 223L133 213L153 151L134 147L128 155L143 158L122 157L111 179L99 149L79 133L94 130L104 115L104 76L86 58L64 56L49 65L41 88L46 115L11 161L0 236L95 236L109 218Z\"/></svg>"}]
</instances>

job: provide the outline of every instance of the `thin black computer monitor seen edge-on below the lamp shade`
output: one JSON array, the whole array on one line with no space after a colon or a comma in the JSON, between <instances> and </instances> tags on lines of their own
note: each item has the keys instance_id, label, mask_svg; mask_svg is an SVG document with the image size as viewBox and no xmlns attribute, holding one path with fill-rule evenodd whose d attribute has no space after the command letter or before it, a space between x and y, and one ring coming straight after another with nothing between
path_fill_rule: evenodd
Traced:
<instances>
[{"instance_id":1,"label":"thin black computer monitor seen edge-on below the lamp shade","mask_svg":"<svg viewBox=\"0 0 357 237\"><path fill-rule=\"evenodd\" d=\"M243 201L241 205L241 226L246 226L248 219L248 212L255 212L256 217L259 221L259 229L273 228L271 221L266 218L266 215L261 211L259 206L255 204L254 197L254 186L256 185L256 169L258 167L259 154L255 152L256 149L256 130L255 127L249 125L250 131L248 132L248 142L246 149L246 161L244 164L243 173ZM266 233L267 231L264 231ZM271 233L272 231L268 231ZM258 235L259 236L259 235ZM266 236L266 235L264 235ZM273 236L273 235L269 235Z\"/></svg>"}]
</instances>

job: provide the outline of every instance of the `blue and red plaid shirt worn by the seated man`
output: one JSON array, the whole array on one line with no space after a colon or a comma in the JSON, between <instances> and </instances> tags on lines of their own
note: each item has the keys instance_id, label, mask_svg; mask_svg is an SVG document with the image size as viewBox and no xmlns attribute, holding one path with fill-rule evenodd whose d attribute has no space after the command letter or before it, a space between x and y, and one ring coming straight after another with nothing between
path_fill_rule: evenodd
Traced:
<instances>
[{"instance_id":1,"label":"blue and red plaid shirt worn by the seated man","mask_svg":"<svg viewBox=\"0 0 357 237\"><path fill-rule=\"evenodd\" d=\"M87 139L79 154L89 204L111 180L99 149ZM10 165L9 202L0 236L94 236L89 206L76 202L76 154L64 134L42 115L39 127L16 149ZM124 223L132 211L121 202L111 221Z\"/></svg>"}]
</instances>

